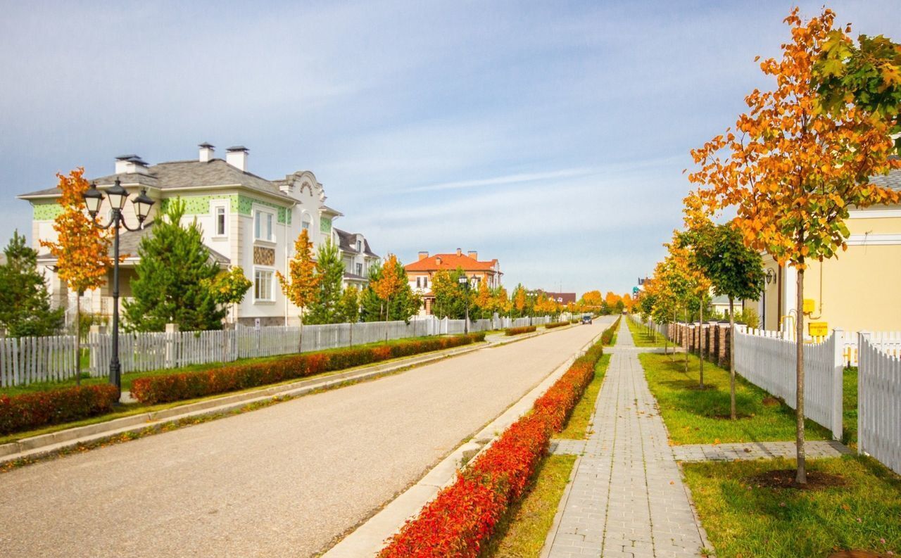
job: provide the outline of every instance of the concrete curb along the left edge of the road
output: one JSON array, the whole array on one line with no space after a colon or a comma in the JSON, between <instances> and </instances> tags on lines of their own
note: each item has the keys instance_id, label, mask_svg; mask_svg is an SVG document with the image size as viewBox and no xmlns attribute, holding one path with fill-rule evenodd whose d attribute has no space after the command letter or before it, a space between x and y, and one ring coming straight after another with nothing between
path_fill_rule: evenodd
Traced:
<instances>
[{"instance_id":1,"label":"concrete curb along the left edge of the road","mask_svg":"<svg viewBox=\"0 0 901 558\"><path fill-rule=\"evenodd\" d=\"M366 380L375 376L392 374L406 368L429 365L444 358L460 356L473 351L490 347L500 347L526 338L545 335L548 332L567 328L542 330L528 336L514 336L501 338L490 342L453 347L418 356L409 356L396 360L386 365L369 365L365 368L350 369L345 372L328 374L318 378L307 378L297 382L263 387L251 392L224 394L222 397L196 403L187 403L165 410L157 410L140 413L121 419L107 420L84 427L67 428L50 434L23 438L0 446L0 465L24 458L40 457L51 454L68 447L96 442L108 437L118 436L127 432L137 432L147 427L152 427L179 419L187 419L203 415L215 415L230 410L237 410L251 403L270 401L276 397L297 397L316 390L328 389L344 382Z\"/></svg>"}]
</instances>

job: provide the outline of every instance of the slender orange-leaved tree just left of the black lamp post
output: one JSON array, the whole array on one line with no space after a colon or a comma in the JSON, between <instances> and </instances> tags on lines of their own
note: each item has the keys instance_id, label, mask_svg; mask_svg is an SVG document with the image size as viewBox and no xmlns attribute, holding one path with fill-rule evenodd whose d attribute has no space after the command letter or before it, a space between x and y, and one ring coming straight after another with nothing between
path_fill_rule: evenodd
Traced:
<instances>
[{"instance_id":1,"label":"slender orange-leaved tree just left of the black lamp post","mask_svg":"<svg viewBox=\"0 0 901 558\"><path fill-rule=\"evenodd\" d=\"M41 240L57 260L59 280L76 293L75 305L75 383L81 383L81 295L102 287L106 271L113 266L109 256L111 238L107 231L96 226L85 207L84 193L91 187L85 180L85 169L78 167L59 178L59 205L62 212L53 220L56 242Z\"/></svg>"}]
</instances>

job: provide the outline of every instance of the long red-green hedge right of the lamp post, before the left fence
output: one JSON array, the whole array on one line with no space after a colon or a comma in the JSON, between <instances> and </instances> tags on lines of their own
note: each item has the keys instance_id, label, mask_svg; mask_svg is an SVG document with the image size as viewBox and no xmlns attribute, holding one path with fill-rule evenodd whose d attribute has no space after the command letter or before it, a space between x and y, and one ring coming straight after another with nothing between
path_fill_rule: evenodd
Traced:
<instances>
[{"instance_id":1,"label":"long red-green hedge right of the lamp post, before the left fence","mask_svg":"<svg viewBox=\"0 0 901 558\"><path fill-rule=\"evenodd\" d=\"M200 372L146 376L132 380L132 397L141 403L150 404L195 399L484 340L485 334L479 332L447 338L401 341L382 347L349 347L306 353L265 363L219 366Z\"/></svg>"}]
</instances>

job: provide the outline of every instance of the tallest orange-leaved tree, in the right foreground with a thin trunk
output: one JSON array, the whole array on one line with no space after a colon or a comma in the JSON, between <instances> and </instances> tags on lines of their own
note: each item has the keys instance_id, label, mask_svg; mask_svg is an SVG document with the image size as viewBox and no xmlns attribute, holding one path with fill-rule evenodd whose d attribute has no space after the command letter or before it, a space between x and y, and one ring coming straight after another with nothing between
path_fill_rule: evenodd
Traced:
<instances>
[{"instance_id":1,"label":"tallest orange-leaved tree, in the right foreground with a thin trunk","mask_svg":"<svg viewBox=\"0 0 901 558\"><path fill-rule=\"evenodd\" d=\"M750 111L734 131L692 151L700 169L689 179L704 187L710 207L733 207L744 242L765 250L797 275L796 308L804 302L809 260L835 257L849 236L850 207L898 202L901 192L872 184L870 177L901 167L889 159L895 146L892 123L865 106L838 103L821 108L814 65L827 43L847 40L833 28L831 10L809 21L792 10L786 18L791 40L781 59L760 63L774 78L772 91L745 97ZM848 30L850 31L850 30ZM804 316L796 320L796 482L805 483Z\"/></svg>"}]
</instances>

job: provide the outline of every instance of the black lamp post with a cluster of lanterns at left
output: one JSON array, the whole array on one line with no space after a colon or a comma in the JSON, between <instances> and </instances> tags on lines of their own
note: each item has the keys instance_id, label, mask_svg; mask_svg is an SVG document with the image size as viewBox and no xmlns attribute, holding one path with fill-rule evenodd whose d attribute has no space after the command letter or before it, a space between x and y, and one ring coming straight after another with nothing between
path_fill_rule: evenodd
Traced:
<instances>
[{"instance_id":1,"label":"black lamp post with a cluster of lanterns at left","mask_svg":"<svg viewBox=\"0 0 901 558\"><path fill-rule=\"evenodd\" d=\"M99 229L114 229L113 237L113 356L110 358L110 383L114 384L119 394L122 394L122 365L119 363L119 227L126 230L140 230L141 225L147 215L150 213L150 207L153 200L147 197L147 189L141 189L138 197L132 200L134 203L134 211L138 215L138 226L132 229L125 222L122 210L125 207L125 201L128 199L128 191L119 183L119 179L115 179L113 187L106 190L106 198L109 199L110 207L113 210L110 220L105 225L96 222L97 212L100 211L100 204L104 201L104 194L96 189L95 184L91 184L90 189L84 194L87 212L91 214L94 225Z\"/></svg>"}]
</instances>

